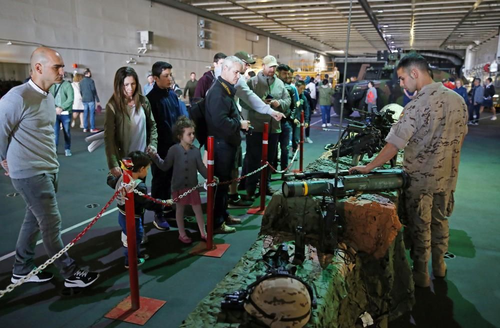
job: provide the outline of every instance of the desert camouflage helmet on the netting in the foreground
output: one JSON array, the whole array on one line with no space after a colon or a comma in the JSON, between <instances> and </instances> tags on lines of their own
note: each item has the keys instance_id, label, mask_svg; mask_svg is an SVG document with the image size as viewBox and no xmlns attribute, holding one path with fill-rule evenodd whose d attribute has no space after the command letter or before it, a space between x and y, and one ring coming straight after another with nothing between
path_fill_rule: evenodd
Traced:
<instances>
[{"instance_id":1,"label":"desert camouflage helmet on the netting in the foreground","mask_svg":"<svg viewBox=\"0 0 500 328\"><path fill-rule=\"evenodd\" d=\"M300 278L270 274L252 285L244 303L251 316L272 328L303 327L309 321L313 295Z\"/></svg>"}]
</instances>

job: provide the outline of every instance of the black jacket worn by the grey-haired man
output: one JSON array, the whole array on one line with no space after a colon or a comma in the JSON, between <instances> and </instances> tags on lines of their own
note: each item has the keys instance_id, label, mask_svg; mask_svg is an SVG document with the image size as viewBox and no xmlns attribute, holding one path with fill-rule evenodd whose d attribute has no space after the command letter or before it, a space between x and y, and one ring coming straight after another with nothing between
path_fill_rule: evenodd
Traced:
<instances>
[{"instance_id":1,"label":"black jacket worn by the grey-haired man","mask_svg":"<svg viewBox=\"0 0 500 328\"><path fill-rule=\"evenodd\" d=\"M205 119L208 135L222 138L227 143L238 146L241 144L239 135L241 123L234 101L235 92L234 85L219 76L205 97Z\"/></svg>"}]
</instances>

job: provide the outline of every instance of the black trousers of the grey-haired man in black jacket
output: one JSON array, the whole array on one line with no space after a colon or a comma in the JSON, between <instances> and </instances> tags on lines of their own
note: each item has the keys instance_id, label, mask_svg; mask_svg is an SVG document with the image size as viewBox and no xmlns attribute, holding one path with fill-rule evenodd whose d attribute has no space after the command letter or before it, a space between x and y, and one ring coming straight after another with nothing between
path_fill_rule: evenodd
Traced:
<instances>
[{"instance_id":1,"label":"black trousers of the grey-haired man in black jacket","mask_svg":"<svg viewBox=\"0 0 500 328\"><path fill-rule=\"evenodd\" d=\"M255 132L253 132L255 133ZM248 137L248 135L246 136ZM234 160L236 159L236 146L227 143L223 139L215 138L213 142L213 174L219 178L219 181L230 180ZM227 211L227 191L229 184L217 185L215 197L213 200L213 228L216 229L229 215Z\"/></svg>"}]
</instances>

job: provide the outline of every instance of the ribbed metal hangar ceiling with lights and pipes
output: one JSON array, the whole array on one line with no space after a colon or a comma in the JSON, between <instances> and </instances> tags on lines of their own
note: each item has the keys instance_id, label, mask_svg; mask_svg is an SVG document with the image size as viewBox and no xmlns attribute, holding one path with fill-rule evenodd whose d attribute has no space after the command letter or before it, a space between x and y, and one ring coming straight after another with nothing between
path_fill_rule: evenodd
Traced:
<instances>
[{"instance_id":1,"label":"ribbed metal hangar ceiling with lights and pipes","mask_svg":"<svg viewBox=\"0 0 500 328\"><path fill-rule=\"evenodd\" d=\"M336 56L345 51L349 0L178 0ZM500 0L353 0L349 55L465 49L498 34Z\"/></svg>"}]
</instances>

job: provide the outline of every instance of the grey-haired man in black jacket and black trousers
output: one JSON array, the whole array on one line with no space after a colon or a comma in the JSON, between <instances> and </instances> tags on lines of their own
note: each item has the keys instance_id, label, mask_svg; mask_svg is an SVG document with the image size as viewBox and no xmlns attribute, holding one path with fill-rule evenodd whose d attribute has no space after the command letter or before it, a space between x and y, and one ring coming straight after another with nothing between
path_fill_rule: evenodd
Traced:
<instances>
[{"instance_id":1,"label":"grey-haired man in black jacket and black trousers","mask_svg":"<svg viewBox=\"0 0 500 328\"><path fill-rule=\"evenodd\" d=\"M220 181L231 179L234 167L236 147L241 143L239 130L248 129L249 121L239 118L239 111L234 101L243 62L236 56L229 56L222 63L222 72L212 84L205 97L205 116L208 135L214 136L214 174ZM215 191L213 209L213 232L231 233L235 228L225 225L227 212L228 185L218 185Z\"/></svg>"}]
</instances>

